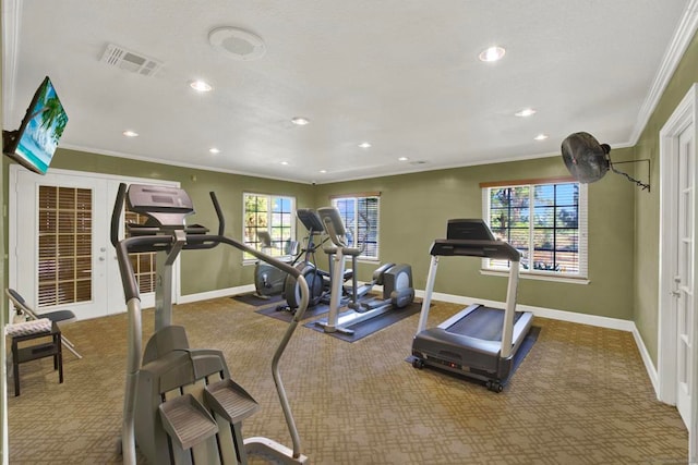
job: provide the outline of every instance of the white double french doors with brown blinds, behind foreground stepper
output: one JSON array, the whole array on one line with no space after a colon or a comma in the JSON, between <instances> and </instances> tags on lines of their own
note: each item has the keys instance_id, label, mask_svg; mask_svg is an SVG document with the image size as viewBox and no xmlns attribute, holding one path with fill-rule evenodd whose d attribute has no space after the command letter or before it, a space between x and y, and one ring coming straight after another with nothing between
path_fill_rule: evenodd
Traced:
<instances>
[{"instance_id":1,"label":"white double french doors with brown blinds, behind foreground stepper","mask_svg":"<svg viewBox=\"0 0 698 465\"><path fill-rule=\"evenodd\" d=\"M38 175L10 167L10 286L39 313L70 308L79 319L125 311L119 266L110 243L120 182L169 184L51 170ZM139 221L127 212L119 221ZM133 255L142 307L155 305L154 254ZM176 264L173 290L178 294ZM176 296L174 301L176 302Z\"/></svg>"}]
</instances>

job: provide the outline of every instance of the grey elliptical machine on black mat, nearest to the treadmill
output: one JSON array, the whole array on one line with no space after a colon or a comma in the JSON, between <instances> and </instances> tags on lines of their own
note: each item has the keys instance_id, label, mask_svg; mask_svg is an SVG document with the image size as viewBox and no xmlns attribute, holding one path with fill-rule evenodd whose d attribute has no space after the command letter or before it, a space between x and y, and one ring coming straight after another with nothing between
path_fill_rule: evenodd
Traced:
<instances>
[{"instance_id":1,"label":"grey elliptical machine on black mat, nearest to the treadmill","mask_svg":"<svg viewBox=\"0 0 698 465\"><path fill-rule=\"evenodd\" d=\"M345 272L345 257L351 257L351 265L354 269L352 273L352 298L349 303L349 311L339 316L339 308L342 306L342 282L332 281L332 293L329 302L329 314L327 318L317 320L315 323L325 332L339 331L344 334L353 334L350 326L358 325L371 318L375 318L392 309L404 308L414 301L414 289L412 287L412 267L409 265L385 264L373 272L373 279L361 289L358 286L356 269L357 257L365 248L365 241L361 247L350 247L347 244L347 230L335 207L323 207L317 209L317 213L323 222L325 232L337 247L334 256L333 276L340 277ZM377 298L360 301L362 293L365 295L374 285L383 285L383 295Z\"/></svg>"}]
</instances>

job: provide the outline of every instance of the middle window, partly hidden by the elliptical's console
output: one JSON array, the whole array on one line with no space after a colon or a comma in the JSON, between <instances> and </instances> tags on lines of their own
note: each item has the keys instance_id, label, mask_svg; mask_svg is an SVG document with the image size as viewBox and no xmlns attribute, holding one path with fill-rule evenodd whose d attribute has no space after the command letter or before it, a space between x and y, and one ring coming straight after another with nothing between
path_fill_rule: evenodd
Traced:
<instances>
[{"instance_id":1,"label":"middle window, partly hidden by the elliptical's console","mask_svg":"<svg viewBox=\"0 0 698 465\"><path fill-rule=\"evenodd\" d=\"M332 199L333 207L339 210L339 215L345 222L349 245L358 247L365 242L365 249L359 258L378 259L380 200L381 197L377 194Z\"/></svg>"}]
</instances>

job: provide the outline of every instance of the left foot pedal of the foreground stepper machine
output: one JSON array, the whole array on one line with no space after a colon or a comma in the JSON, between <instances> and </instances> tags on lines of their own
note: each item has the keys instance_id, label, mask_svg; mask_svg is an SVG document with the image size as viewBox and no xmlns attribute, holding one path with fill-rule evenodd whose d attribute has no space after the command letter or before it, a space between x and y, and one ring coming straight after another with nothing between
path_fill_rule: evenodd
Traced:
<instances>
[{"instance_id":1,"label":"left foot pedal of the foreground stepper machine","mask_svg":"<svg viewBox=\"0 0 698 465\"><path fill-rule=\"evenodd\" d=\"M158 406L163 427L181 449L186 450L218 432L218 425L191 394L180 395Z\"/></svg>"}]
</instances>

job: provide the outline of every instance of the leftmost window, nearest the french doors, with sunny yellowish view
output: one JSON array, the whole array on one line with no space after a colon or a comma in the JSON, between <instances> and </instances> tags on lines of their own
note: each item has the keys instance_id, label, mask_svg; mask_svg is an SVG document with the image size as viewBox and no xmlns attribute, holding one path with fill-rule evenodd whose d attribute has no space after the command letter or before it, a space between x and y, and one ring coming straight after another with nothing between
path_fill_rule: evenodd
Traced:
<instances>
[{"instance_id":1,"label":"leftmost window, nearest the french doors, with sunny yellowish view","mask_svg":"<svg viewBox=\"0 0 698 465\"><path fill-rule=\"evenodd\" d=\"M244 194L244 243L273 257L292 254L296 235L296 199L264 194ZM244 254L245 261L254 260Z\"/></svg>"}]
</instances>

